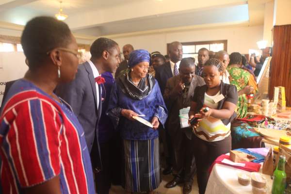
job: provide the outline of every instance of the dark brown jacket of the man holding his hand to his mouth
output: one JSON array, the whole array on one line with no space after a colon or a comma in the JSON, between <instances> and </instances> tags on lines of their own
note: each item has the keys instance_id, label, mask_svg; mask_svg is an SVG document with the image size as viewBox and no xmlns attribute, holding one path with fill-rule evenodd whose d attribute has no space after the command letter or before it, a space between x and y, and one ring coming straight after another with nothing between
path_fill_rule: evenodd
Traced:
<instances>
[{"instance_id":1,"label":"dark brown jacket of the man holding his hand to his mouth","mask_svg":"<svg viewBox=\"0 0 291 194\"><path fill-rule=\"evenodd\" d=\"M167 81L167 85L164 91L164 101L166 103L169 116L167 121L167 129L169 134L172 138L177 139L175 142L182 141L183 138L181 137L181 129L180 129L180 118L179 118L179 111L182 108L189 107L191 105L191 99L194 96L194 90L198 86L205 85L205 81L200 76L194 75L187 97L185 101L183 100L183 96L181 94L177 94L174 89L176 85L181 81L180 76L174 76ZM191 139L192 130L183 129L186 133L186 136Z\"/></svg>"}]
</instances>

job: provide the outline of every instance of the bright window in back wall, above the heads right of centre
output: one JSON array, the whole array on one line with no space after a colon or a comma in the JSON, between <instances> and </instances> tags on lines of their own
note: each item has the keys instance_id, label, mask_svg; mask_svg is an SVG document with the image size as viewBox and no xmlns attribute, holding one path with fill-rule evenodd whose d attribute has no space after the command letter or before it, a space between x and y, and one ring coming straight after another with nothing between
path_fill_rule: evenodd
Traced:
<instances>
[{"instance_id":1,"label":"bright window in back wall, above the heads right of centre","mask_svg":"<svg viewBox=\"0 0 291 194\"><path fill-rule=\"evenodd\" d=\"M213 52L218 52L219 50L227 51L227 40L184 42L181 44L183 46L183 58L193 57L195 58L195 63L198 63L199 49L206 48Z\"/></svg>"}]
</instances>

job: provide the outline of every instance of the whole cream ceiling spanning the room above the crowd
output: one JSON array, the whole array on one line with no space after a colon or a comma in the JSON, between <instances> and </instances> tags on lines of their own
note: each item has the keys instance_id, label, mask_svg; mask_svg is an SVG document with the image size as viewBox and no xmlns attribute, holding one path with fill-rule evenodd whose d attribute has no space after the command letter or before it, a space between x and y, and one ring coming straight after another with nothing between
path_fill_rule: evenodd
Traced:
<instances>
[{"instance_id":1,"label":"whole cream ceiling spanning the room above the crowd","mask_svg":"<svg viewBox=\"0 0 291 194\"><path fill-rule=\"evenodd\" d=\"M63 0L73 32L104 36L183 26L261 25L269 0ZM0 22L25 25L34 16L54 16L58 0L0 0Z\"/></svg>"}]
</instances>

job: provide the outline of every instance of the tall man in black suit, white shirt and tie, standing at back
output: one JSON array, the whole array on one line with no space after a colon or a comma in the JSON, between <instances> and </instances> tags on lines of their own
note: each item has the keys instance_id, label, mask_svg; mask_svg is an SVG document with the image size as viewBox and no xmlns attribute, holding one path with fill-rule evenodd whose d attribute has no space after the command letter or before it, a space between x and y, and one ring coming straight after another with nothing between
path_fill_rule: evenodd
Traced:
<instances>
[{"instance_id":1,"label":"tall man in black suit, white shirt and tie, standing at back","mask_svg":"<svg viewBox=\"0 0 291 194\"><path fill-rule=\"evenodd\" d=\"M183 48L182 44L179 42L172 42L169 45L168 53L170 56L170 61L166 62L164 65L158 66L155 71L155 78L158 81L162 95L164 93L166 83L169 78L172 78L173 75L178 75L178 69L180 61L183 57ZM172 161L173 161L173 148L170 140L170 136L165 129L160 129L161 138L163 141L164 152L166 156L166 168L163 170L164 175L168 175L172 172Z\"/></svg>"}]
</instances>

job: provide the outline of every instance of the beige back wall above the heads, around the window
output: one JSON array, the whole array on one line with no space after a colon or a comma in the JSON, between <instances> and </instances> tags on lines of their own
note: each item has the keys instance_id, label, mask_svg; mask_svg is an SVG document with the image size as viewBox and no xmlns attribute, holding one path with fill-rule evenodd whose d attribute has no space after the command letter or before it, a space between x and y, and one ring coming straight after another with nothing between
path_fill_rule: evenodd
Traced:
<instances>
[{"instance_id":1,"label":"beige back wall above the heads, around the window","mask_svg":"<svg viewBox=\"0 0 291 194\"><path fill-rule=\"evenodd\" d=\"M165 32L148 35L112 38L120 48L132 44L134 49L147 49L149 52L160 51L166 54L167 43L173 41L195 42L210 40L227 40L227 51L247 54L249 49L258 49L257 41L263 39L263 26L220 27L207 30L184 32Z\"/></svg>"}]
</instances>

